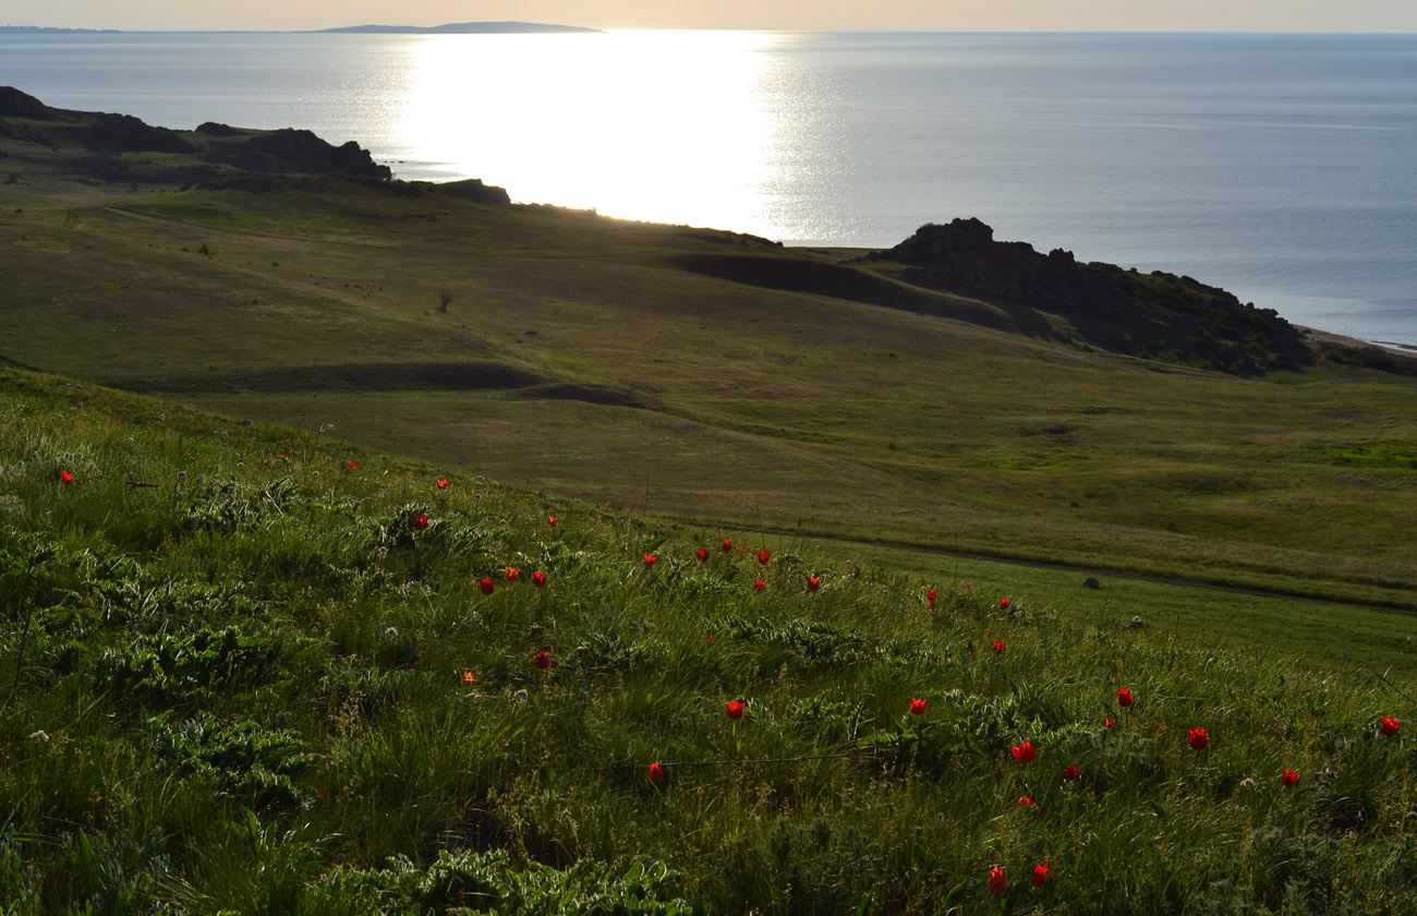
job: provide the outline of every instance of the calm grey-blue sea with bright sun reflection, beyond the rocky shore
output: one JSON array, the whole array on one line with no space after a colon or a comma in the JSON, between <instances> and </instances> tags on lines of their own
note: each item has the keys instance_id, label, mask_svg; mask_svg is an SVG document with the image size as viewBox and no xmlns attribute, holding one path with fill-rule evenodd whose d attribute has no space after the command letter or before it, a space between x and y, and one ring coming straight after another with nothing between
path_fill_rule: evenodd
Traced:
<instances>
[{"instance_id":1,"label":"calm grey-blue sea with bright sun reflection, beyond the rocky shore","mask_svg":"<svg viewBox=\"0 0 1417 916\"><path fill-rule=\"evenodd\" d=\"M0 35L0 84L788 244L976 216L1417 345L1417 35Z\"/></svg>"}]
</instances>

